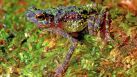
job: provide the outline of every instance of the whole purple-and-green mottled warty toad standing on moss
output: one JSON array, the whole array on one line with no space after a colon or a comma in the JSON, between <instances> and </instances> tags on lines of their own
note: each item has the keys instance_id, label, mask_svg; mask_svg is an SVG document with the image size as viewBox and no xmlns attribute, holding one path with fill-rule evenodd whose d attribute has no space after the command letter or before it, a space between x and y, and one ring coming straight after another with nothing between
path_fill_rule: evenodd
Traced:
<instances>
[{"instance_id":1,"label":"whole purple-and-green mottled warty toad standing on moss","mask_svg":"<svg viewBox=\"0 0 137 77\"><path fill-rule=\"evenodd\" d=\"M101 8L100 8L101 7ZM62 77L67 70L70 58L77 46L77 39L69 33L80 32L85 28L88 33L96 35L101 32L105 40L109 40L109 20L108 12L105 7L97 4L88 4L85 6L60 6L58 8L48 8L40 10L35 7L28 9L27 19L34 22L43 31L57 33L70 40L71 46L64 62L55 70L54 77Z\"/></svg>"}]
</instances>

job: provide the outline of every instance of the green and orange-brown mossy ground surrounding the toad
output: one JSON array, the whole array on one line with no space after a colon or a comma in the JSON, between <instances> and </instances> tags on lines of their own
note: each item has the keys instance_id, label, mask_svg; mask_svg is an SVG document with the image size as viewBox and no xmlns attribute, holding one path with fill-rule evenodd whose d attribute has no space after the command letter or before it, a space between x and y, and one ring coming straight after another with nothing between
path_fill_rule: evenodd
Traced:
<instances>
[{"instance_id":1,"label":"green and orange-brown mossy ground surrounding the toad","mask_svg":"<svg viewBox=\"0 0 137 77\"><path fill-rule=\"evenodd\" d=\"M103 5L112 1L104 0ZM90 0L0 0L0 76L50 77L70 46L67 39L43 33L29 22L25 17L29 6L87 3ZM105 44L98 36L84 35L64 77L137 77L137 17L116 3L109 10L114 41Z\"/></svg>"}]
</instances>

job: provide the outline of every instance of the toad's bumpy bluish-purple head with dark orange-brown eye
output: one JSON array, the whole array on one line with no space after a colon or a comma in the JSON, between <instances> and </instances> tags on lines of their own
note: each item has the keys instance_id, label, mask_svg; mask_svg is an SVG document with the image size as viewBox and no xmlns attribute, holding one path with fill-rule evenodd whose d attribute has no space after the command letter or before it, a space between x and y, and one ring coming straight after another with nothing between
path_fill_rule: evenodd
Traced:
<instances>
[{"instance_id":1,"label":"toad's bumpy bluish-purple head with dark orange-brown eye","mask_svg":"<svg viewBox=\"0 0 137 77\"><path fill-rule=\"evenodd\" d=\"M30 7L26 12L27 19L39 27L49 27L50 22L53 20L53 16L44 12L44 10Z\"/></svg>"}]
</instances>

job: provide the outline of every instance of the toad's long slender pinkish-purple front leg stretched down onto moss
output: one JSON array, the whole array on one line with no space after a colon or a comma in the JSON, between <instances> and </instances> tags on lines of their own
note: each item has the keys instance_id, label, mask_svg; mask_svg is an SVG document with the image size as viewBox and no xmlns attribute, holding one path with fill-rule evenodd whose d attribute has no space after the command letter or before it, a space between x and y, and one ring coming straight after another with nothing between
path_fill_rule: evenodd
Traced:
<instances>
[{"instance_id":1,"label":"toad's long slender pinkish-purple front leg stretched down onto moss","mask_svg":"<svg viewBox=\"0 0 137 77\"><path fill-rule=\"evenodd\" d=\"M45 31L51 31L53 33L57 33L67 39L70 40L71 42L71 46L69 48L69 51L65 57L65 60L63 61L63 63L55 70L55 74L54 77L62 77L63 74L65 73L65 71L67 70L68 66L69 66L69 62L70 62L70 58L74 52L74 49L77 46L77 40L74 39L73 37L71 37L68 33L64 32L62 29L60 28L48 28Z\"/></svg>"}]
</instances>

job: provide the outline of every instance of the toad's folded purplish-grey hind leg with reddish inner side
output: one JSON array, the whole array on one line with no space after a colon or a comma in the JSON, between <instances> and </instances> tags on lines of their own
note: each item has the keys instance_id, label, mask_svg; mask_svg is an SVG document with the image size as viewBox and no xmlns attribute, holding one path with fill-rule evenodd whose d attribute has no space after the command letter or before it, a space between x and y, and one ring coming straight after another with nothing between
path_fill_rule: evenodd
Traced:
<instances>
[{"instance_id":1,"label":"toad's folded purplish-grey hind leg with reddish inner side","mask_svg":"<svg viewBox=\"0 0 137 77\"><path fill-rule=\"evenodd\" d=\"M102 10L99 15L94 15L90 17L90 22L88 22L88 30L90 34L96 34L100 32L100 37L104 39L104 41L111 40L109 34L109 13L107 11Z\"/></svg>"}]
</instances>

